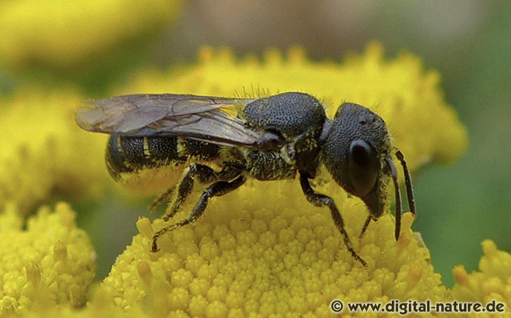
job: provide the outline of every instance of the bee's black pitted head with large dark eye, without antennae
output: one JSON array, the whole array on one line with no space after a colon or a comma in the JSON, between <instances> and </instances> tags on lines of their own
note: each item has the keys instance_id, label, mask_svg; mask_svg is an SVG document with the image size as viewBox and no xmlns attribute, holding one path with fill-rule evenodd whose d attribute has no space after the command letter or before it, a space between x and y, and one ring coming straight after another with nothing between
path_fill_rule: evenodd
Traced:
<instances>
[{"instance_id":1,"label":"bee's black pitted head with large dark eye, without antennae","mask_svg":"<svg viewBox=\"0 0 511 318\"><path fill-rule=\"evenodd\" d=\"M375 219L385 209L391 148L383 119L358 104L342 104L322 134L322 163L346 192L363 200Z\"/></svg>"}]
</instances>

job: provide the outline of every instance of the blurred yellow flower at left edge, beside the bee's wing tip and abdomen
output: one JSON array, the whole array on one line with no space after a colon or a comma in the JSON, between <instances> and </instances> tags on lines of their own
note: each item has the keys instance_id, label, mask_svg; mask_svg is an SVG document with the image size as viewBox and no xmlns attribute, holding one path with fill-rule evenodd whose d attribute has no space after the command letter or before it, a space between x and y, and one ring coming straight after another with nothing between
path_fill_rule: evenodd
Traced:
<instances>
[{"instance_id":1,"label":"blurred yellow flower at left edge, beside the bee's wing tip and abdomen","mask_svg":"<svg viewBox=\"0 0 511 318\"><path fill-rule=\"evenodd\" d=\"M72 89L37 87L0 99L0 205L14 201L26 214L51 196L104 194L106 138L90 138L75 124L82 99Z\"/></svg>"}]
</instances>

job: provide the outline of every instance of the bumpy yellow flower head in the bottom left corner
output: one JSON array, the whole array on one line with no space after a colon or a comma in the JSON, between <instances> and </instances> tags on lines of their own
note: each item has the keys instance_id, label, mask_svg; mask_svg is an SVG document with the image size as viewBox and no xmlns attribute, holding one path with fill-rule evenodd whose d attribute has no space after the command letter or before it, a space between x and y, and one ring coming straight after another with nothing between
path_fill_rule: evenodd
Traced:
<instances>
[{"instance_id":1,"label":"bumpy yellow flower head in the bottom left corner","mask_svg":"<svg viewBox=\"0 0 511 318\"><path fill-rule=\"evenodd\" d=\"M85 304L96 273L96 253L87 234L77 229L75 212L60 203L55 212L40 208L28 219L16 204L0 214L0 315L23 314L37 306Z\"/></svg>"}]
</instances>

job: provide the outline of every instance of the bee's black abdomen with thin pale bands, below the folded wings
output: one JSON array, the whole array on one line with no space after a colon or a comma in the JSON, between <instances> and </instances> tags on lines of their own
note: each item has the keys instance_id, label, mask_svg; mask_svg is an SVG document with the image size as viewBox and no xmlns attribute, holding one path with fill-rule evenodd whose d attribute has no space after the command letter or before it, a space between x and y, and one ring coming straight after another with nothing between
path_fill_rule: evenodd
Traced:
<instances>
[{"instance_id":1,"label":"bee's black abdomen with thin pale bands, below the folded wings","mask_svg":"<svg viewBox=\"0 0 511 318\"><path fill-rule=\"evenodd\" d=\"M123 172L180 165L190 158L211 160L219 156L219 146L176 136L111 135L106 146L106 167L115 180Z\"/></svg>"}]
</instances>

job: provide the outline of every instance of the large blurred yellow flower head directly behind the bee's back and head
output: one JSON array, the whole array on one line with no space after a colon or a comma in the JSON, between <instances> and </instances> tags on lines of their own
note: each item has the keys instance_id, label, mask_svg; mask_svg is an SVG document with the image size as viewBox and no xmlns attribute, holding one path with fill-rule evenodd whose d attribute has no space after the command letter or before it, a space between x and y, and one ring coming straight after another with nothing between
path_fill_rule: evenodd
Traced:
<instances>
[{"instance_id":1,"label":"large blurred yellow flower head directly behind the bee's back and head","mask_svg":"<svg viewBox=\"0 0 511 318\"><path fill-rule=\"evenodd\" d=\"M333 116L342 102L355 102L382 116L394 145L414 170L427 163L451 163L464 152L467 133L444 102L440 76L425 71L418 57L401 53L386 60L379 43L343 63L313 62L300 48L283 57L268 50L263 61L237 60L229 50L204 48L199 63L169 73L142 72L119 94L172 92L245 97L299 91L324 101Z\"/></svg>"}]
</instances>

